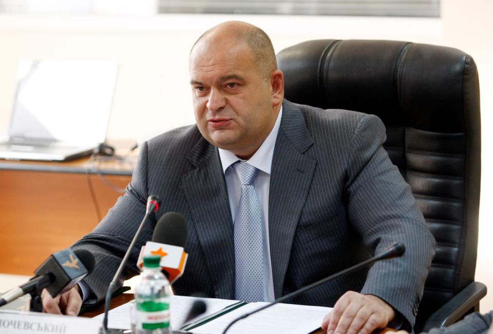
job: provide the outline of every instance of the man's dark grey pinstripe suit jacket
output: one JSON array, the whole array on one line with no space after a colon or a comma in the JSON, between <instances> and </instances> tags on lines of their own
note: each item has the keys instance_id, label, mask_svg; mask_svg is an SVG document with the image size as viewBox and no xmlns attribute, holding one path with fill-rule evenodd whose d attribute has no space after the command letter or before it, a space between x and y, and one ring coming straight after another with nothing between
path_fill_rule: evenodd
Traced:
<instances>
[{"instance_id":1,"label":"man's dark grey pinstripe suit jacket","mask_svg":"<svg viewBox=\"0 0 493 334\"><path fill-rule=\"evenodd\" d=\"M385 128L373 115L321 110L286 101L272 162L269 238L276 298L329 276L370 254L403 242L403 258L376 263L308 292L295 303L333 306L346 291L372 293L414 324L435 241L399 170L382 147ZM169 131L144 144L125 195L75 247L94 253L86 282L99 300L135 234L150 194L184 215L188 263L177 294L234 294L233 223L217 148L196 126ZM148 223L124 271L138 273Z\"/></svg>"}]
</instances>

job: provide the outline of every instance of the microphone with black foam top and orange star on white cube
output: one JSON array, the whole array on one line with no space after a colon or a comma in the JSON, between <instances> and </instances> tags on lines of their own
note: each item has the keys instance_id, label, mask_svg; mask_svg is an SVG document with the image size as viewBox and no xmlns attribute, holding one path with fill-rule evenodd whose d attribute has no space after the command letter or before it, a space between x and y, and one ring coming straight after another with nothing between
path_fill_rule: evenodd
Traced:
<instances>
[{"instance_id":1,"label":"microphone with black foam top and orange star on white cube","mask_svg":"<svg viewBox=\"0 0 493 334\"><path fill-rule=\"evenodd\" d=\"M188 254L185 253L188 231L185 219L178 212L167 212L158 221L152 241L142 247L137 267L142 269L143 259L149 255L161 257L161 269L170 284L179 279L185 269Z\"/></svg>"}]
</instances>

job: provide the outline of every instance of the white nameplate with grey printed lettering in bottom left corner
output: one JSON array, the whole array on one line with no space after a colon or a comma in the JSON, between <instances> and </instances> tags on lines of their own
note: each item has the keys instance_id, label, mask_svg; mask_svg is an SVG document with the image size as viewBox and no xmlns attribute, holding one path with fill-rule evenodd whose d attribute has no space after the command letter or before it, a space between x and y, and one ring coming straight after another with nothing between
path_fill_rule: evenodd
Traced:
<instances>
[{"instance_id":1,"label":"white nameplate with grey printed lettering in bottom left corner","mask_svg":"<svg viewBox=\"0 0 493 334\"><path fill-rule=\"evenodd\" d=\"M98 334L101 321L39 312L0 311L0 333Z\"/></svg>"}]
</instances>

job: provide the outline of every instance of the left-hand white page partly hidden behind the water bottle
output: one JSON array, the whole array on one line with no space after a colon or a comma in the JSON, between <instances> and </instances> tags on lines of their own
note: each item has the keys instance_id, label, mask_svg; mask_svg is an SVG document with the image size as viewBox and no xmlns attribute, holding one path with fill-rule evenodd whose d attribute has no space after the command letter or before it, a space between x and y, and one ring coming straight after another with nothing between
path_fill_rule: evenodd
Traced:
<instances>
[{"instance_id":1,"label":"left-hand white page partly hidden behind the water bottle","mask_svg":"<svg viewBox=\"0 0 493 334\"><path fill-rule=\"evenodd\" d=\"M186 297L186 296L171 296L171 301L169 305L169 310L171 313L171 327L178 329L183 324L188 310L192 307L194 301L198 298L196 297ZM226 299L216 299L216 298L200 298L204 301L206 305L206 311L202 315L198 316L197 319L206 317L220 311L221 309L236 303L234 300ZM134 301L123 304L109 311L108 313L108 328L117 329L130 329L130 304ZM104 314L94 317L95 319L100 319L103 321ZM192 319L193 322L197 319Z\"/></svg>"}]
</instances>

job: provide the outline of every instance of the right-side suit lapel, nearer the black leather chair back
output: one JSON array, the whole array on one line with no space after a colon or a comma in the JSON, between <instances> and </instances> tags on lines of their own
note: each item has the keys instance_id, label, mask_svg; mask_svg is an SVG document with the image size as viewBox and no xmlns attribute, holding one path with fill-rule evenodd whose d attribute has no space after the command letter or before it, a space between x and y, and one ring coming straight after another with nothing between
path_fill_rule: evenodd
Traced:
<instances>
[{"instance_id":1,"label":"right-side suit lapel, nearer the black leather chair back","mask_svg":"<svg viewBox=\"0 0 493 334\"><path fill-rule=\"evenodd\" d=\"M317 164L304 154L312 145L301 111L285 100L269 186L269 244L275 298L281 297L294 232Z\"/></svg>"}]
</instances>

